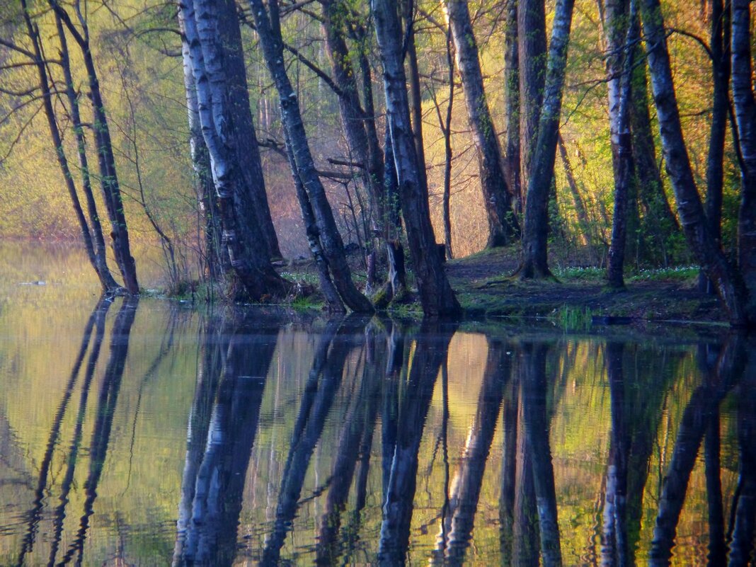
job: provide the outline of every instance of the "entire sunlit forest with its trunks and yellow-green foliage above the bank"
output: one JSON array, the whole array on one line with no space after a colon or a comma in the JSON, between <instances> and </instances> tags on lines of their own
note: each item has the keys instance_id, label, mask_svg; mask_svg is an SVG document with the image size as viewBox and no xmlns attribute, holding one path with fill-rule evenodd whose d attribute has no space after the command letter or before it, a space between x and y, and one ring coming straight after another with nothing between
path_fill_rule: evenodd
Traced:
<instances>
[{"instance_id":1,"label":"entire sunlit forest with its trunks and yellow-green foliage above the bank","mask_svg":"<svg viewBox=\"0 0 756 567\"><path fill-rule=\"evenodd\" d=\"M331 311L403 295L406 258L454 314L445 259L509 246L523 280L695 263L756 321L748 0L0 5L0 235L81 240L104 290L148 240L253 301L314 259Z\"/></svg>"}]
</instances>

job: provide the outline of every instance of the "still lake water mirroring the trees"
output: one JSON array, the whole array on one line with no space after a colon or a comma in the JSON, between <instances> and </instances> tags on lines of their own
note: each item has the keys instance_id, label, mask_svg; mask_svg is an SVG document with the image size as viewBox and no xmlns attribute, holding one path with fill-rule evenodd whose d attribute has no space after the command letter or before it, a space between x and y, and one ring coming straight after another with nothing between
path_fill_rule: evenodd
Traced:
<instances>
[{"instance_id":1,"label":"still lake water mirroring the trees","mask_svg":"<svg viewBox=\"0 0 756 567\"><path fill-rule=\"evenodd\" d=\"M0 252L0 565L751 556L749 339L101 302Z\"/></svg>"}]
</instances>

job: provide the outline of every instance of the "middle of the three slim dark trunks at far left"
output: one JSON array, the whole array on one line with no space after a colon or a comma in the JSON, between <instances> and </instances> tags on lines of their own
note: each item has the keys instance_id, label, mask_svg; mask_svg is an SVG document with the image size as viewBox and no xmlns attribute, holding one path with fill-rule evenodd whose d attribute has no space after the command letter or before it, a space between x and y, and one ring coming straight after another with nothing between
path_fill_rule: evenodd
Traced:
<instances>
[{"instance_id":1,"label":"middle of the three slim dark trunks at far left","mask_svg":"<svg viewBox=\"0 0 756 567\"><path fill-rule=\"evenodd\" d=\"M79 100L76 98L76 90L73 85L73 75L71 73L71 63L68 51L68 42L66 32L63 29L63 22L60 15L55 14L55 27L57 36L60 39L60 66L63 67L63 74L66 81L66 97L69 104L71 121L73 122L73 133L76 136L76 151L79 153L79 167L82 171L82 191L87 201L87 212L89 224L91 225L92 239L95 243L95 271L100 277L100 282L104 290L116 290L119 285L113 279L110 268L107 267L107 256L105 254L105 239L102 234L102 225L100 223L100 214L95 203L95 195L92 193L91 178L89 175L89 163L87 160L87 150L84 141L84 127L79 113Z\"/></svg>"}]
</instances>

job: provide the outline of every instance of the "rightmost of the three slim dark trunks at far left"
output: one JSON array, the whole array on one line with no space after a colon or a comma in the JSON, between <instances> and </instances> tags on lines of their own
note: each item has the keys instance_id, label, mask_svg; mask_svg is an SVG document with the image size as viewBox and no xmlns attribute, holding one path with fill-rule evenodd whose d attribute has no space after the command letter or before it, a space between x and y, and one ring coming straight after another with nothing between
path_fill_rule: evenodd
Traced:
<instances>
[{"instance_id":1,"label":"rightmost of the three slim dark trunks at far left","mask_svg":"<svg viewBox=\"0 0 756 567\"><path fill-rule=\"evenodd\" d=\"M105 202L105 208L107 209L112 228L110 237L113 239L113 254L116 256L116 263L121 271L126 290L131 295L138 295L139 284L137 281L136 265L129 245L129 228L126 225L121 189L116 174L116 158L113 155L113 142L110 140L110 129L107 125L105 104L100 91L100 80L98 79L98 73L95 68L95 60L91 54L89 30L86 26L86 21L83 20L83 35L82 33L79 33L79 30L74 26L67 11L57 4L56 0L48 0L48 2L60 19L66 24L66 27L82 51L90 91L89 96L91 97L92 112L95 117L93 129L95 131L95 145L97 146L98 162L100 166L103 200Z\"/></svg>"}]
</instances>

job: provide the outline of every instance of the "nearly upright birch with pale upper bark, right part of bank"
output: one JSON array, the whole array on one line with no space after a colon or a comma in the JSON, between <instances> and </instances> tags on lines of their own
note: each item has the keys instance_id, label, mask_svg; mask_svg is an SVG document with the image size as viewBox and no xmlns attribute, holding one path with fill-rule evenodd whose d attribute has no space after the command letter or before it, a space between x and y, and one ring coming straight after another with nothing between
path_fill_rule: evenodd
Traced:
<instances>
[{"instance_id":1,"label":"nearly upright birch with pale upper bark, right part of bank","mask_svg":"<svg viewBox=\"0 0 756 567\"><path fill-rule=\"evenodd\" d=\"M603 27L609 53L606 74L609 79L609 131L612 136L615 208L606 277L609 287L615 289L624 287L624 255L631 206L637 212L637 203L631 203L630 198L634 163L630 105L633 45L640 39L639 26L634 0L607 0Z\"/></svg>"}]
</instances>

